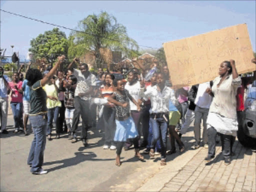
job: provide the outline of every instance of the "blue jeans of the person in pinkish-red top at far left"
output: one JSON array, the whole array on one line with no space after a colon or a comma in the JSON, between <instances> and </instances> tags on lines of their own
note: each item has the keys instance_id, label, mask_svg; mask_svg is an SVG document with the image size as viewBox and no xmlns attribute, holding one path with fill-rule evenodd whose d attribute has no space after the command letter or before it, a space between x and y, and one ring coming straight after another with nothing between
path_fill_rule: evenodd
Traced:
<instances>
[{"instance_id":1,"label":"blue jeans of the person in pinkish-red top at far left","mask_svg":"<svg viewBox=\"0 0 256 192\"><path fill-rule=\"evenodd\" d=\"M22 102L10 102L15 128L23 128L22 113L23 103Z\"/></svg>"}]
</instances>

